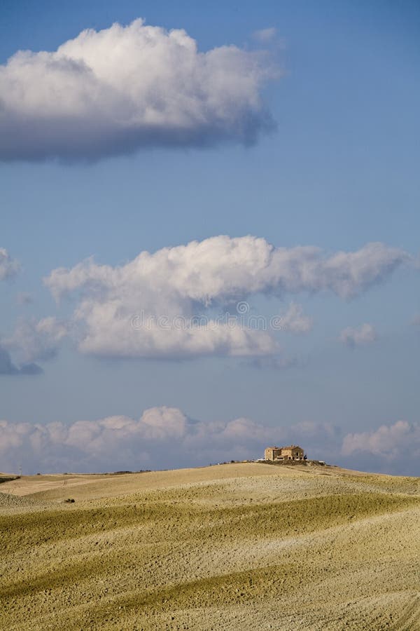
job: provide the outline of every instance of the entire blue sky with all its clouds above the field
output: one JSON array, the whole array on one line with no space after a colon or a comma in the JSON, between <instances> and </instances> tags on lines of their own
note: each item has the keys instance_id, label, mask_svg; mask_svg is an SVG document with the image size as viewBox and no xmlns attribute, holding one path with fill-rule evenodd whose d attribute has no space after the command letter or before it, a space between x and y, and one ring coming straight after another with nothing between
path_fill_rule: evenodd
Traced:
<instances>
[{"instance_id":1,"label":"entire blue sky with all its clouds above the field","mask_svg":"<svg viewBox=\"0 0 420 631\"><path fill-rule=\"evenodd\" d=\"M419 4L0 18L0 470L420 475Z\"/></svg>"}]
</instances>

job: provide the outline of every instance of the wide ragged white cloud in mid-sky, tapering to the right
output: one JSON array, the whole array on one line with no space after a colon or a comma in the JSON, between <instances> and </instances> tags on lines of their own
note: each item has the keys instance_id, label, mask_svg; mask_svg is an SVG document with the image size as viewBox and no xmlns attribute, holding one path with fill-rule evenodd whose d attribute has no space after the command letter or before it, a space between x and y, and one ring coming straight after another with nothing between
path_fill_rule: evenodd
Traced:
<instances>
[{"instance_id":1,"label":"wide ragged white cloud in mid-sky, tapering to the right","mask_svg":"<svg viewBox=\"0 0 420 631\"><path fill-rule=\"evenodd\" d=\"M281 329L283 320L255 328L239 308L232 314L235 320L216 320L211 308L261 292L329 291L348 299L407 259L402 250L382 243L327 256L317 247L274 247L253 236L217 236L154 254L141 252L120 267L87 260L73 269L55 269L45 283L57 299L76 294L74 321L85 353L258 356L279 352L272 329ZM297 307L286 316L286 327L295 332L311 325Z\"/></svg>"}]
</instances>

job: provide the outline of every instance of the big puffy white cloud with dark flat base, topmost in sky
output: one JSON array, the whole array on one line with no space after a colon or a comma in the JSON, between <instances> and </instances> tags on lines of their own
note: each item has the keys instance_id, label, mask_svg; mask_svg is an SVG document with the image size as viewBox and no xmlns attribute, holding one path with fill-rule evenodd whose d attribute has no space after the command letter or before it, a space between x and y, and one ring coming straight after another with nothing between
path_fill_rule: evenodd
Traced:
<instances>
[{"instance_id":1,"label":"big puffy white cloud with dark flat base, topmost in sky","mask_svg":"<svg viewBox=\"0 0 420 631\"><path fill-rule=\"evenodd\" d=\"M140 147L254 142L273 123L261 52L207 53L183 30L134 20L0 67L0 159L99 158Z\"/></svg>"}]
</instances>

